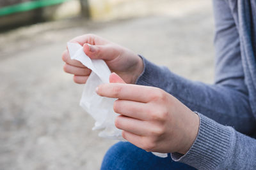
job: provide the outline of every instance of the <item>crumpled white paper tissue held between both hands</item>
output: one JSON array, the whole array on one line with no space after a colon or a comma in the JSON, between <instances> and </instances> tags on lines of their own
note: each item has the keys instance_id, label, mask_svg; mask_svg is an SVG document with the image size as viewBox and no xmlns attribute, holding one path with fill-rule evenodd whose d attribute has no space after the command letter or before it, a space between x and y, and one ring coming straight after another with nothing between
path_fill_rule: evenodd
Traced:
<instances>
[{"instance_id":1,"label":"crumpled white paper tissue held between both hands","mask_svg":"<svg viewBox=\"0 0 256 170\"><path fill-rule=\"evenodd\" d=\"M84 53L83 46L78 43L67 43L67 46L71 59L78 60L92 70L84 85L80 106L96 121L93 130L102 129L99 133L102 138L126 141L122 138L122 131L115 127L115 118L118 114L113 110L113 104L116 99L101 97L95 92L98 85L109 83L111 71L106 62L104 60L91 60ZM154 153L154 155L167 157L167 153Z\"/></svg>"}]
</instances>

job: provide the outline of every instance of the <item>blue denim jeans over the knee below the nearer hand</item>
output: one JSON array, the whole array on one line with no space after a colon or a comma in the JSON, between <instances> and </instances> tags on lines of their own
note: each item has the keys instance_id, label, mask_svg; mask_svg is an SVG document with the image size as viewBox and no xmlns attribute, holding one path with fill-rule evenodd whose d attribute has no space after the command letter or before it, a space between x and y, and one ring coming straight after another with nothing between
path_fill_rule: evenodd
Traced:
<instances>
[{"instance_id":1,"label":"blue denim jeans over the knee below the nearer hand","mask_svg":"<svg viewBox=\"0 0 256 170\"><path fill-rule=\"evenodd\" d=\"M118 142L109 148L101 168L108 169L195 169L186 164L175 162L170 154L166 158L156 157L129 142Z\"/></svg>"}]
</instances>

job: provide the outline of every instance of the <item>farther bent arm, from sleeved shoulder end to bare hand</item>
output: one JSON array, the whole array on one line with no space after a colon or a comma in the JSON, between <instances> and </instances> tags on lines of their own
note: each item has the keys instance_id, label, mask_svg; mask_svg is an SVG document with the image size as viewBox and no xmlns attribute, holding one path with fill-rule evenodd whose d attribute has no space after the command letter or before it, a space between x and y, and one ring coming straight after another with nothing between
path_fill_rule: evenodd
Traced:
<instances>
[{"instance_id":1,"label":"farther bent arm, from sleeved shoulder end to bare hand","mask_svg":"<svg viewBox=\"0 0 256 170\"><path fill-rule=\"evenodd\" d=\"M252 134L256 129L255 118L244 85L244 73L240 56L239 34L230 9L225 1L214 1L217 10L227 15L216 15L216 83L189 81L173 74L166 67L156 66L127 48L111 43L99 36L87 34L72 41L84 46L84 52L92 59L104 59L111 71L120 75L125 82L159 87L177 97L191 110L204 113L220 124L230 125L244 134ZM217 20L217 19L216 19ZM90 46L87 44L89 43ZM70 60L68 52L63 53L66 62L64 70L74 74L74 81L85 83L90 70L81 63ZM239 120L239 121L238 121Z\"/></svg>"}]
</instances>

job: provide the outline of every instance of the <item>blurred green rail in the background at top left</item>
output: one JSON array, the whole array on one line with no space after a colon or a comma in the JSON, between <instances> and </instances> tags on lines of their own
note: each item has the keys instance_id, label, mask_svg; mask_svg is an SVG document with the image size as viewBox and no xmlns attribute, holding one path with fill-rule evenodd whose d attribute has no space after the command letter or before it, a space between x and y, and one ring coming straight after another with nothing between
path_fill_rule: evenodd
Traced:
<instances>
[{"instance_id":1,"label":"blurred green rail in the background at top left","mask_svg":"<svg viewBox=\"0 0 256 170\"><path fill-rule=\"evenodd\" d=\"M26 3L14 4L11 6L5 6L3 8L0 8L0 17L4 15L10 15L12 13L35 10L36 8L42 8L44 6L60 4L60 3L64 3L65 1L70 1L70 0L38 0L38 1L29 1Z\"/></svg>"}]
</instances>

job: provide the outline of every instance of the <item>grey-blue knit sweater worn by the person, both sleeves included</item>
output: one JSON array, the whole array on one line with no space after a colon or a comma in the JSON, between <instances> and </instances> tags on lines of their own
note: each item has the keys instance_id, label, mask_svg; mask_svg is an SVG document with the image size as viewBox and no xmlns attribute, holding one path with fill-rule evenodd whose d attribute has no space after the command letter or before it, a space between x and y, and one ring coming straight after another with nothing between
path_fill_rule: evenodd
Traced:
<instances>
[{"instance_id":1,"label":"grey-blue knit sweater worn by the person, both sleeves included","mask_svg":"<svg viewBox=\"0 0 256 170\"><path fill-rule=\"evenodd\" d=\"M214 85L189 81L143 58L137 83L159 87L198 111L200 129L186 155L197 169L256 169L256 0L213 0Z\"/></svg>"}]
</instances>

